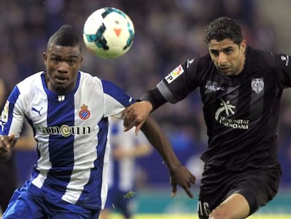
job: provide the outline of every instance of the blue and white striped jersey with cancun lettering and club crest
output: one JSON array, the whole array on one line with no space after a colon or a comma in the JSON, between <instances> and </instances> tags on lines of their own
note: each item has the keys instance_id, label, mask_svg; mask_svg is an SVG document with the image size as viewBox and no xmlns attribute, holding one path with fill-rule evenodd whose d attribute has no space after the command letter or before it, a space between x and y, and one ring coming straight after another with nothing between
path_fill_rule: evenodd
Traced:
<instances>
[{"instance_id":1,"label":"blue and white striped jersey with cancun lettering and club crest","mask_svg":"<svg viewBox=\"0 0 291 219\"><path fill-rule=\"evenodd\" d=\"M38 159L28 184L86 208L107 197L108 116L120 118L134 99L112 82L79 72L75 89L58 95L44 72L15 86L1 114L1 132L20 136L25 118L37 140Z\"/></svg>"}]
</instances>

